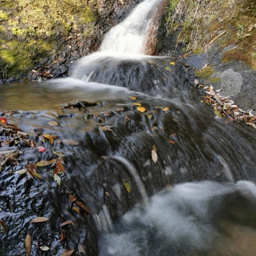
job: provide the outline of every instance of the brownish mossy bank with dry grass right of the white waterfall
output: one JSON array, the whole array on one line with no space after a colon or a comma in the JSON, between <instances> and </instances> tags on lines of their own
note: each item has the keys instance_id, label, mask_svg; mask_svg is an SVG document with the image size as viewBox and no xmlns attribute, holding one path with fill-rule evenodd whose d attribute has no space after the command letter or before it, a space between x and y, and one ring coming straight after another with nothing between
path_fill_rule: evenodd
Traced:
<instances>
[{"instance_id":1,"label":"brownish mossy bank with dry grass right of the white waterfall","mask_svg":"<svg viewBox=\"0 0 256 256\"><path fill-rule=\"evenodd\" d=\"M256 2L254 0L169 0L168 33L184 52L207 51L213 42L234 45L223 61L241 60L256 68ZM234 54L236 53L236 54Z\"/></svg>"}]
</instances>

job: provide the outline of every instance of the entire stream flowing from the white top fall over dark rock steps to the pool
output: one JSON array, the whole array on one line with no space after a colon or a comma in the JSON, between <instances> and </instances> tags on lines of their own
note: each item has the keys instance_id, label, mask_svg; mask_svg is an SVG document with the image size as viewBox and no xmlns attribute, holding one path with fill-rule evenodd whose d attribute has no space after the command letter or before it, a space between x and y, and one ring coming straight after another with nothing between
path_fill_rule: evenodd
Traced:
<instances>
[{"instance_id":1,"label":"entire stream flowing from the white top fall over dark rock steps to the pool","mask_svg":"<svg viewBox=\"0 0 256 256\"><path fill-rule=\"evenodd\" d=\"M20 165L0 172L0 255L24 255L26 234L33 256L255 254L255 130L216 117L174 57L147 55L164 4L139 4L71 78L1 85L0 111L18 110L8 122L46 151L21 146ZM59 108L78 99L100 103ZM51 165L38 167L42 180L14 173L56 151L60 186ZM30 223L38 216L49 220Z\"/></svg>"}]
</instances>

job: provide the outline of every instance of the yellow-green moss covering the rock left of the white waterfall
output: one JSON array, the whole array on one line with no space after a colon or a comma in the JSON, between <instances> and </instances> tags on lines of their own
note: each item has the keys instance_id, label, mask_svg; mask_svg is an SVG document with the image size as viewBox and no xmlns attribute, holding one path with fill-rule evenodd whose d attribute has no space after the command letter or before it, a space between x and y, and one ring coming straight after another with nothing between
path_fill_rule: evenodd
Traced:
<instances>
[{"instance_id":1,"label":"yellow-green moss covering the rock left of the white waterfall","mask_svg":"<svg viewBox=\"0 0 256 256\"><path fill-rule=\"evenodd\" d=\"M7 77L23 76L53 48L63 49L56 34L78 34L79 26L82 34L96 20L84 0L5 0L0 9L0 70Z\"/></svg>"}]
</instances>

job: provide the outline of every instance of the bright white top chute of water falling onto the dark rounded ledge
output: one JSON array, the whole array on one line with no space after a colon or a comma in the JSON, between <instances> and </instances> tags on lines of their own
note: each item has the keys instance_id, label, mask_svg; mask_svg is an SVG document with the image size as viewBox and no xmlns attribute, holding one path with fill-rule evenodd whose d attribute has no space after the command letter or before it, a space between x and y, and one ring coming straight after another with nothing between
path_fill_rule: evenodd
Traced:
<instances>
[{"instance_id":1,"label":"bright white top chute of water falling onto the dark rounded ledge","mask_svg":"<svg viewBox=\"0 0 256 256\"><path fill-rule=\"evenodd\" d=\"M113 27L105 36L100 51L145 54L144 42L155 22L153 12L163 0L146 0L140 3L122 23ZM154 27L153 29L157 29Z\"/></svg>"}]
</instances>

